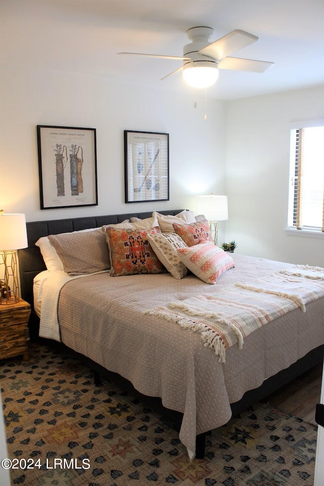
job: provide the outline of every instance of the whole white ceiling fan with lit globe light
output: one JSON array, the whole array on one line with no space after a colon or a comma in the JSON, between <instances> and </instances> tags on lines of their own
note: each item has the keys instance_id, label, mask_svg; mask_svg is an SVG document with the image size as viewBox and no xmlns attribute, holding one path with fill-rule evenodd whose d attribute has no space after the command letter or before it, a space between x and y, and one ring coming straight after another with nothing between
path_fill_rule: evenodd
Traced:
<instances>
[{"instance_id":1,"label":"whole white ceiling fan with lit globe light","mask_svg":"<svg viewBox=\"0 0 324 486\"><path fill-rule=\"evenodd\" d=\"M192 42L184 46L183 57L136 52L118 52L117 54L183 60L183 66L170 72L161 78L161 80L177 71L183 70L183 77L186 83L195 88L212 86L218 78L219 69L264 72L274 64L268 61L228 57L229 54L259 40L259 37L245 30L232 30L212 43L209 42L209 39L213 35L213 29L211 27L192 27L187 30L187 35Z\"/></svg>"}]
</instances>

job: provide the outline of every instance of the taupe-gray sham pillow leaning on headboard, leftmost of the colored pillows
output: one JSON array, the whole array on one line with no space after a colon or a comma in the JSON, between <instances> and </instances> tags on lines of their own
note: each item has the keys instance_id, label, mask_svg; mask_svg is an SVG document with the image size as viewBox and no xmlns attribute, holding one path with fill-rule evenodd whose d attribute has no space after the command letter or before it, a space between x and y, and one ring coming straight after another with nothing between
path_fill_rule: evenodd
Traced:
<instances>
[{"instance_id":1,"label":"taupe-gray sham pillow leaning on headboard, leftmost of the colored pillows","mask_svg":"<svg viewBox=\"0 0 324 486\"><path fill-rule=\"evenodd\" d=\"M51 245L69 275L94 273L110 268L105 234L101 229L87 233L49 235Z\"/></svg>"}]
</instances>

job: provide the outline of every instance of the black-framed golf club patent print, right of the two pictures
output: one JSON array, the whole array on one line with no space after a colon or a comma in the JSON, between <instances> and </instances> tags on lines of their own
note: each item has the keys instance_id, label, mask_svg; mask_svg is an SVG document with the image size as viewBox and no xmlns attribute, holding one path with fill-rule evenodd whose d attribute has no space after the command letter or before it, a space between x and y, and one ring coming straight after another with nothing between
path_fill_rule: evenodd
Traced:
<instances>
[{"instance_id":1,"label":"black-framed golf club patent print, right of the two pictures","mask_svg":"<svg viewBox=\"0 0 324 486\"><path fill-rule=\"evenodd\" d=\"M169 134L124 131L125 203L168 201Z\"/></svg>"}]
</instances>

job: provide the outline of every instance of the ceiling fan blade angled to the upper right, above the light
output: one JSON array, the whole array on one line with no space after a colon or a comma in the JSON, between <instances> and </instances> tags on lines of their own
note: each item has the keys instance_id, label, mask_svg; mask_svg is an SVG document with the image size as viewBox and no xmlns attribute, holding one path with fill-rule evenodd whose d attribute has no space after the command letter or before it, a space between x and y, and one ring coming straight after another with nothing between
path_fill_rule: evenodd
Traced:
<instances>
[{"instance_id":1,"label":"ceiling fan blade angled to the upper right, above the light","mask_svg":"<svg viewBox=\"0 0 324 486\"><path fill-rule=\"evenodd\" d=\"M258 40L259 37L257 37L256 35L250 34L245 30L236 29L224 35L209 46L200 49L198 53L220 60L228 56L232 52L249 46L249 44L253 44Z\"/></svg>"}]
</instances>

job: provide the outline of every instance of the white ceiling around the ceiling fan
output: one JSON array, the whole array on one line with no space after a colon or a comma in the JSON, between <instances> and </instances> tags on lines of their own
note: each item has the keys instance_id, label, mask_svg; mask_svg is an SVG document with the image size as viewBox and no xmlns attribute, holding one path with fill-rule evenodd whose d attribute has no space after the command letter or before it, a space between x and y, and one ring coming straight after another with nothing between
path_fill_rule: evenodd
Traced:
<instances>
[{"instance_id":1,"label":"white ceiling around the ceiling fan","mask_svg":"<svg viewBox=\"0 0 324 486\"><path fill-rule=\"evenodd\" d=\"M306 88L324 80L323 0L1 0L6 64L77 71L165 90L185 90L181 61L118 56L183 55L187 29L212 40L233 29L259 41L232 56L274 62L264 73L221 70L208 96L230 100ZM14 20L13 20L14 19ZM14 39L14 42L13 42ZM5 45L4 45L5 43Z\"/></svg>"}]
</instances>

